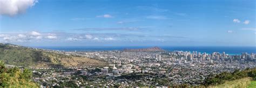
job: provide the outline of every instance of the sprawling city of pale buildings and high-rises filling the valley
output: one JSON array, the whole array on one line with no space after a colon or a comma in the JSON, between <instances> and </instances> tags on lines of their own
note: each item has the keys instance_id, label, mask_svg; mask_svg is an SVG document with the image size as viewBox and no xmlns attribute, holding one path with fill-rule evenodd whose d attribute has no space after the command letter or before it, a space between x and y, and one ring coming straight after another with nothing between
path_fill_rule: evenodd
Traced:
<instances>
[{"instance_id":1,"label":"sprawling city of pale buildings and high-rises filling the valley","mask_svg":"<svg viewBox=\"0 0 256 88\"><path fill-rule=\"evenodd\" d=\"M209 75L256 67L253 53L228 55L225 52L207 54L119 50L60 53L93 58L108 62L109 65L104 68L34 69L34 72L40 72L42 75L34 78L36 82L48 83L50 86L58 86L61 81L72 81L79 86L200 85ZM44 74L45 72L47 74Z\"/></svg>"}]
</instances>

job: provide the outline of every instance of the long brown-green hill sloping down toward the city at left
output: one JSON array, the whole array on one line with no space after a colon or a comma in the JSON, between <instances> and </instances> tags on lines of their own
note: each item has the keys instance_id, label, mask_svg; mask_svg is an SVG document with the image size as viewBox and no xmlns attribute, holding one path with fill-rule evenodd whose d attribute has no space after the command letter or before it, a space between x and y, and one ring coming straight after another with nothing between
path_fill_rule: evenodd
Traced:
<instances>
[{"instance_id":1,"label":"long brown-green hill sloping down toward the city at left","mask_svg":"<svg viewBox=\"0 0 256 88\"><path fill-rule=\"evenodd\" d=\"M24 67L103 67L106 63L85 57L68 56L41 49L0 43L0 61Z\"/></svg>"}]
</instances>

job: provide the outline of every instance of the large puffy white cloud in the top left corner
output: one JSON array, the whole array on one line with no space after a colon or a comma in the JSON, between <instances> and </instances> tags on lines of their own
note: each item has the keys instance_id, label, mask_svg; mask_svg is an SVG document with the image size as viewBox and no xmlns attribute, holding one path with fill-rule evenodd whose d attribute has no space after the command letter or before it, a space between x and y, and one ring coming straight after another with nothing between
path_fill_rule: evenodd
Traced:
<instances>
[{"instance_id":1,"label":"large puffy white cloud in the top left corner","mask_svg":"<svg viewBox=\"0 0 256 88\"><path fill-rule=\"evenodd\" d=\"M37 3L37 0L0 0L0 14L15 16Z\"/></svg>"}]
</instances>

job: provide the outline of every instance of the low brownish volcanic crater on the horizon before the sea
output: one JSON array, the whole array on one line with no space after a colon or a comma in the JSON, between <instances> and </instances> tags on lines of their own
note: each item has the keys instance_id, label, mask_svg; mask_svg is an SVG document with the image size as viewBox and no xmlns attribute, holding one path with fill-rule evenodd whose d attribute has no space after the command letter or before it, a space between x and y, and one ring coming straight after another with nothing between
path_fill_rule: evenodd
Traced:
<instances>
[{"instance_id":1,"label":"low brownish volcanic crater on the horizon before the sea","mask_svg":"<svg viewBox=\"0 0 256 88\"><path fill-rule=\"evenodd\" d=\"M124 52L163 52L164 49L159 47L142 48L142 49L124 49Z\"/></svg>"}]
</instances>

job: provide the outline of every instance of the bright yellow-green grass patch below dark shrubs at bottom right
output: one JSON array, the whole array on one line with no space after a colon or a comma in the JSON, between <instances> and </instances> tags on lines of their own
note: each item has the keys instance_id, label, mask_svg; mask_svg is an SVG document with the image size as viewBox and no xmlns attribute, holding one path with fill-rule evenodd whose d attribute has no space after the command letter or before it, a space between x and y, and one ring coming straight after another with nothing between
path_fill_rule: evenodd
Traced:
<instances>
[{"instance_id":1,"label":"bright yellow-green grass patch below dark shrubs at bottom right","mask_svg":"<svg viewBox=\"0 0 256 88\"><path fill-rule=\"evenodd\" d=\"M232 88L232 87L248 87L251 84L251 78L241 78L237 80L232 80L225 82L224 84L216 85L216 86L209 86L210 88Z\"/></svg>"}]
</instances>

